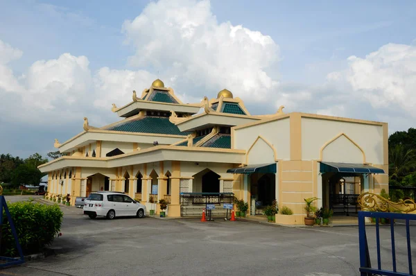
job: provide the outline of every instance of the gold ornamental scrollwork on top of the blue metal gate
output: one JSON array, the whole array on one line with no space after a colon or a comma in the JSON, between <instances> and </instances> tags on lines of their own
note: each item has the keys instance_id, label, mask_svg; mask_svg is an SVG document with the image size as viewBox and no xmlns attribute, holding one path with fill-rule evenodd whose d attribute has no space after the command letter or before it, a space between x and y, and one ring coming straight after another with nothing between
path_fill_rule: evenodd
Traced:
<instances>
[{"instance_id":1,"label":"gold ornamental scrollwork on top of the blue metal gate","mask_svg":"<svg viewBox=\"0 0 416 276\"><path fill-rule=\"evenodd\" d=\"M388 212L389 207L393 207L404 213L409 213L416 210L416 203L411 199L401 199L399 202L393 202L388 198L383 198L376 193L361 193L361 195L358 196L357 201L365 211Z\"/></svg>"}]
</instances>

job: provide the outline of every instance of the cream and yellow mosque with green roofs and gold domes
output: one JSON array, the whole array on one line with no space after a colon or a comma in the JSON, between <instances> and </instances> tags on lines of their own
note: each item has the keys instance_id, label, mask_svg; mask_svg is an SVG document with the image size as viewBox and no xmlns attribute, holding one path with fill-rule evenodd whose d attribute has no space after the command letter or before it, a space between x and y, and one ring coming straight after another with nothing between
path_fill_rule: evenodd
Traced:
<instances>
[{"instance_id":1,"label":"cream and yellow mosque with green roofs and gold domes","mask_svg":"<svg viewBox=\"0 0 416 276\"><path fill-rule=\"evenodd\" d=\"M182 103L161 80L112 112L121 121L98 128L85 118L83 132L55 140L66 156L39 167L49 193L69 193L73 204L92 191L122 191L148 210L164 198L174 217L199 215L207 202L221 209L232 196L254 216L276 199L293 210L277 223L302 224L304 198L345 215L358 210L359 193L388 190L387 123L283 107L252 115L227 89Z\"/></svg>"}]
</instances>

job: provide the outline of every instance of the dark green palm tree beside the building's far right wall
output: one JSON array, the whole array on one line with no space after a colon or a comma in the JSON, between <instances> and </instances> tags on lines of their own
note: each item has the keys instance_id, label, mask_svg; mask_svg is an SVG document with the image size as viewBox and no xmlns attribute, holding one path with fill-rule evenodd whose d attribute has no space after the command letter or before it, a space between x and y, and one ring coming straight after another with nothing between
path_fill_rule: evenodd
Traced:
<instances>
[{"instance_id":1,"label":"dark green palm tree beside the building's far right wall","mask_svg":"<svg viewBox=\"0 0 416 276\"><path fill-rule=\"evenodd\" d=\"M404 145L397 144L389 148L388 159L390 180L401 182L406 174L416 170L416 152Z\"/></svg>"}]
</instances>

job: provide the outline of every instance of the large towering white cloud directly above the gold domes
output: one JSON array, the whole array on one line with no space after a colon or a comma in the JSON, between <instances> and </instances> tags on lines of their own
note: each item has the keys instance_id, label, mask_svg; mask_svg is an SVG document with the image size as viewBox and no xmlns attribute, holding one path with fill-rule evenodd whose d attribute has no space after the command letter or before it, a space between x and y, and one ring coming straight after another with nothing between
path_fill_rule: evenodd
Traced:
<instances>
[{"instance_id":1,"label":"large towering white cloud directly above the gold domes","mask_svg":"<svg viewBox=\"0 0 416 276\"><path fill-rule=\"evenodd\" d=\"M279 46L268 35L230 22L218 23L209 1L161 0L125 21L126 42L135 46L130 64L155 67L191 96L200 89L227 87L236 96L267 98L277 80L267 73L279 60Z\"/></svg>"}]
</instances>

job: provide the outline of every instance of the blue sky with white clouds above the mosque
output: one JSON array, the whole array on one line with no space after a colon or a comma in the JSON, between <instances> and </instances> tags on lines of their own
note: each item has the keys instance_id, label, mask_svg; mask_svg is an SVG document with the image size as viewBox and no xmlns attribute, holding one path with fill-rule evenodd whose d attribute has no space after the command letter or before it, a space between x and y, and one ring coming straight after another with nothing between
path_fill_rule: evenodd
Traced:
<instances>
[{"instance_id":1,"label":"blue sky with white clouds above the mosque","mask_svg":"<svg viewBox=\"0 0 416 276\"><path fill-rule=\"evenodd\" d=\"M252 114L415 127L416 1L0 0L0 153L54 151L156 78Z\"/></svg>"}]
</instances>

